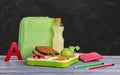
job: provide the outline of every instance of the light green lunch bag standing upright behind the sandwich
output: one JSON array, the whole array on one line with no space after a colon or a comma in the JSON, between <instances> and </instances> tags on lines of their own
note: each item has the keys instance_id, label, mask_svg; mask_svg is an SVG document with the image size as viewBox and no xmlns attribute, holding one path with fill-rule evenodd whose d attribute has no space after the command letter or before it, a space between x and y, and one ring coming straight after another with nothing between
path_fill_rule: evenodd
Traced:
<instances>
[{"instance_id":1,"label":"light green lunch bag standing upright behind the sandwich","mask_svg":"<svg viewBox=\"0 0 120 75\"><path fill-rule=\"evenodd\" d=\"M32 56L35 46L52 48L55 18L25 17L20 22L18 46L23 59Z\"/></svg>"}]
</instances>

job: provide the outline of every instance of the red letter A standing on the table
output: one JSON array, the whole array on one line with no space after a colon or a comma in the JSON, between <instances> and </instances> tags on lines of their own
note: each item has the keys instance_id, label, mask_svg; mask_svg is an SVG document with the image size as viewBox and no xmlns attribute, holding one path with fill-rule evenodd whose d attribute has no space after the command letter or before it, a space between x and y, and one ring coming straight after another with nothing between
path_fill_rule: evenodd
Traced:
<instances>
[{"instance_id":1,"label":"red letter A standing on the table","mask_svg":"<svg viewBox=\"0 0 120 75\"><path fill-rule=\"evenodd\" d=\"M20 54L19 48L16 42L12 42L10 48L8 49L8 53L5 58L5 62L9 62L11 56L17 56L18 60L22 60L22 56Z\"/></svg>"}]
</instances>

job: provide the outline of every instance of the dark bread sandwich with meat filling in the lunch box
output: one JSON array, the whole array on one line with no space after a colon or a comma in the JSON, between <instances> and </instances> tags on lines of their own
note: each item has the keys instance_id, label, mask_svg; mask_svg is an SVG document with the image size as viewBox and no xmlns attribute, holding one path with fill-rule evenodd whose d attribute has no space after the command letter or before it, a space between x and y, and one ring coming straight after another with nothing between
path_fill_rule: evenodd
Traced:
<instances>
[{"instance_id":1,"label":"dark bread sandwich with meat filling in the lunch box","mask_svg":"<svg viewBox=\"0 0 120 75\"><path fill-rule=\"evenodd\" d=\"M59 52L48 46L36 46L32 53L34 55L33 58L49 58L59 55Z\"/></svg>"}]
</instances>

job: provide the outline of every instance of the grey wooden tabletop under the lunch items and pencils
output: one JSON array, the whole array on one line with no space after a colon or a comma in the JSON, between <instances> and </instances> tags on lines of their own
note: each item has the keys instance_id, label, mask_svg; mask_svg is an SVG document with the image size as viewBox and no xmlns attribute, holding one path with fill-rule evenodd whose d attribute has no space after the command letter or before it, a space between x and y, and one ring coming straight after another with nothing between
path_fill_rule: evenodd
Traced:
<instances>
[{"instance_id":1,"label":"grey wooden tabletop under the lunch items and pencils","mask_svg":"<svg viewBox=\"0 0 120 75\"><path fill-rule=\"evenodd\" d=\"M85 64L81 61L68 68L54 68L27 66L25 60L16 61L16 57L12 57L10 62L4 62L4 57L5 56L0 56L0 75L120 75L120 56L104 56L100 61L104 63L114 63L115 66L95 70L74 68L76 65Z\"/></svg>"}]
</instances>

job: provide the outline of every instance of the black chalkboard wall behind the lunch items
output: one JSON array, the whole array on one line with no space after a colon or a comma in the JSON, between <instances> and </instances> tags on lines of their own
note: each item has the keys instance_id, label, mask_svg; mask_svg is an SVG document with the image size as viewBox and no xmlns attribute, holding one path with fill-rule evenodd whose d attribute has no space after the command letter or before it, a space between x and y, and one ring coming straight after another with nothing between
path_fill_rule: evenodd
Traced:
<instances>
[{"instance_id":1,"label":"black chalkboard wall behind the lunch items","mask_svg":"<svg viewBox=\"0 0 120 75\"><path fill-rule=\"evenodd\" d=\"M120 0L0 0L0 54L18 41L26 16L61 17L65 47L120 55Z\"/></svg>"}]
</instances>

